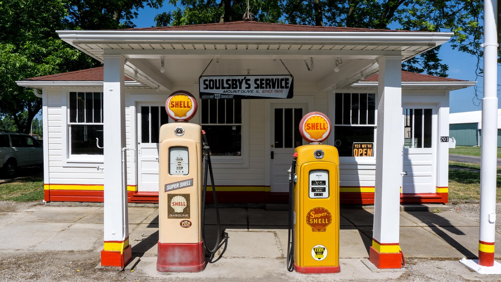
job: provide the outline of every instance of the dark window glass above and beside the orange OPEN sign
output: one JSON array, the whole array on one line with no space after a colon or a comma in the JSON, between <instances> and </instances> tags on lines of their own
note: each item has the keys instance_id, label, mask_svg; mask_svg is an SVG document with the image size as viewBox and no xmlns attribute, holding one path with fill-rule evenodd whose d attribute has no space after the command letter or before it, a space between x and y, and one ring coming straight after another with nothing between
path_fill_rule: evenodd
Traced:
<instances>
[{"instance_id":1,"label":"dark window glass above and beside the orange OPEN sign","mask_svg":"<svg viewBox=\"0 0 501 282\"><path fill-rule=\"evenodd\" d=\"M334 146L340 157L353 157L353 143L374 143L376 94L336 93Z\"/></svg>"}]
</instances>

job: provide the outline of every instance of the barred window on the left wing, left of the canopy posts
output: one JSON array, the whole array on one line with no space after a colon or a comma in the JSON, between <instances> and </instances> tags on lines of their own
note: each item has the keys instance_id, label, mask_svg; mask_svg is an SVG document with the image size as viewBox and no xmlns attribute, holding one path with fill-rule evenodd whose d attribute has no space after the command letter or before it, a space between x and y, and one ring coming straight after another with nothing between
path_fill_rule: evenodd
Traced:
<instances>
[{"instance_id":1,"label":"barred window on the left wing, left of the canopy posts","mask_svg":"<svg viewBox=\"0 0 501 282\"><path fill-rule=\"evenodd\" d=\"M103 155L103 93L70 92L70 155Z\"/></svg>"}]
</instances>

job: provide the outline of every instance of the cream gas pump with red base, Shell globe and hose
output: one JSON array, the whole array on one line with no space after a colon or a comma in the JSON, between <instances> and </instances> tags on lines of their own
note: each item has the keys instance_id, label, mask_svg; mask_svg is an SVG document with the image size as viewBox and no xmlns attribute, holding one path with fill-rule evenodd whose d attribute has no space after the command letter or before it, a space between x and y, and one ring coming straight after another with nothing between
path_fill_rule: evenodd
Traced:
<instances>
[{"instance_id":1,"label":"cream gas pump with red base, Shell globe and hose","mask_svg":"<svg viewBox=\"0 0 501 282\"><path fill-rule=\"evenodd\" d=\"M161 272L198 272L205 268L203 216L207 167L210 169L218 239L219 213L208 146L202 144L201 126L188 123L197 109L187 91L172 93L165 103L167 114L176 122L160 127L159 133L159 234L157 270ZM203 132L205 134L205 132ZM205 136L204 140L206 140ZM202 188L202 146L206 149L205 183Z\"/></svg>"}]
</instances>

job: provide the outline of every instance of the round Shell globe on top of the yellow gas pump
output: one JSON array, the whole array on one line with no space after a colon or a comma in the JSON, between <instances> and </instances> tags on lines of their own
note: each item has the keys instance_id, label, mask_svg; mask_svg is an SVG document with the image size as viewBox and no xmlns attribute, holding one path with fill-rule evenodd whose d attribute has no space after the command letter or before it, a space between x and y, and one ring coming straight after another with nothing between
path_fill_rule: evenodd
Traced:
<instances>
[{"instance_id":1,"label":"round Shell globe on top of the yellow gas pump","mask_svg":"<svg viewBox=\"0 0 501 282\"><path fill-rule=\"evenodd\" d=\"M299 123L299 132L308 143L324 142L331 130L330 119L318 111L307 113Z\"/></svg>"}]
</instances>

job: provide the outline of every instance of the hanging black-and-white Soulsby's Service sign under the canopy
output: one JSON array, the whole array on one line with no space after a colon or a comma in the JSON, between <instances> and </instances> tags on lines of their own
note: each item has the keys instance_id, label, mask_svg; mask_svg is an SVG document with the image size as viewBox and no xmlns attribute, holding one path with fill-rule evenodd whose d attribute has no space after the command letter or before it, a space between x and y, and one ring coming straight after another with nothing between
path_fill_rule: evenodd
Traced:
<instances>
[{"instance_id":1,"label":"hanging black-and-white Soulsby's Service sign under the canopy","mask_svg":"<svg viewBox=\"0 0 501 282\"><path fill-rule=\"evenodd\" d=\"M200 76L200 99L292 98L291 75Z\"/></svg>"}]
</instances>

